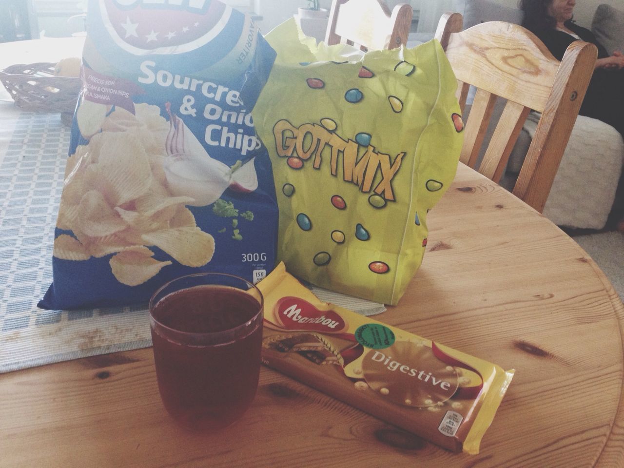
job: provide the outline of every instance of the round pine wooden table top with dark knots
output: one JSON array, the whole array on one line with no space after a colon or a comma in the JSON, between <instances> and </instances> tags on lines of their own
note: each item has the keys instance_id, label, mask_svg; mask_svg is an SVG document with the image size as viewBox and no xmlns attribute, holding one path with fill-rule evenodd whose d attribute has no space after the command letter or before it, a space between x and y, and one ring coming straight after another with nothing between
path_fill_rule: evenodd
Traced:
<instances>
[{"instance_id":1,"label":"round pine wooden table top with dark knots","mask_svg":"<svg viewBox=\"0 0 624 468\"><path fill-rule=\"evenodd\" d=\"M139 349L0 375L0 466L624 466L624 306L598 266L464 165L428 222L421 269L376 318L517 369L478 456L268 368L235 426L184 432L160 403L152 350Z\"/></svg>"}]
</instances>

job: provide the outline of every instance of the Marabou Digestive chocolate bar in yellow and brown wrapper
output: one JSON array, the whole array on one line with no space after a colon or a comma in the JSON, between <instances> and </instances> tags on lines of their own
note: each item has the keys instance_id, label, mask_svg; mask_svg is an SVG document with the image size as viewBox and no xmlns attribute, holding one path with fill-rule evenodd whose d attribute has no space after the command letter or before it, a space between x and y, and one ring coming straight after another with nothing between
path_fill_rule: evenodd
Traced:
<instances>
[{"instance_id":1,"label":"Marabou Digestive chocolate bar in yellow and brown wrapper","mask_svg":"<svg viewBox=\"0 0 624 468\"><path fill-rule=\"evenodd\" d=\"M258 287L263 363L445 449L479 453L513 370L323 303L283 263Z\"/></svg>"}]
</instances>

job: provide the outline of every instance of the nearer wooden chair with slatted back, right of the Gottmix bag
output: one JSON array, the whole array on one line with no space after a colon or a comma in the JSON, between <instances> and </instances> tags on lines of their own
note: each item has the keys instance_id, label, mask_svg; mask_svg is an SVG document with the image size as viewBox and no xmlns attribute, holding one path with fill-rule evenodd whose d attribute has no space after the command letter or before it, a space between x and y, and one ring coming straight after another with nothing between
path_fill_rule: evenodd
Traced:
<instances>
[{"instance_id":1,"label":"nearer wooden chair with slatted back, right of the Gottmix bag","mask_svg":"<svg viewBox=\"0 0 624 468\"><path fill-rule=\"evenodd\" d=\"M542 112L513 190L541 213L592 77L597 49L573 42L559 62L522 26L492 21L461 29L461 14L446 13L436 31L457 77L462 112L470 85L477 88L460 160L475 168L497 96L507 99L477 169L498 183L530 110Z\"/></svg>"}]
</instances>

